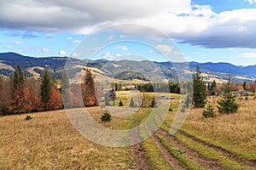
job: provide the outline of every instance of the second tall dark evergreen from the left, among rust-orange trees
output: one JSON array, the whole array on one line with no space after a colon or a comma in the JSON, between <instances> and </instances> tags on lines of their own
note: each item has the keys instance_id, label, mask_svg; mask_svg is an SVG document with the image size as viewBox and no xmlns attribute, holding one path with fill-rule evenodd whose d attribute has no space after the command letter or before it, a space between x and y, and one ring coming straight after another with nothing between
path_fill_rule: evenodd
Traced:
<instances>
[{"instance_id":1,"label":"second tall dark evergreen from the left, among rust-orange trees","mask_svg":"<svg viewBox=\"0 0 256 170\"><path fill-rule=\"evenodd\" d=\"M44 71L44 76L41 81L41 101L47 103L49 101L50 94L50 78L49 71L46 69Z\"/></svg>"}]
</instances>

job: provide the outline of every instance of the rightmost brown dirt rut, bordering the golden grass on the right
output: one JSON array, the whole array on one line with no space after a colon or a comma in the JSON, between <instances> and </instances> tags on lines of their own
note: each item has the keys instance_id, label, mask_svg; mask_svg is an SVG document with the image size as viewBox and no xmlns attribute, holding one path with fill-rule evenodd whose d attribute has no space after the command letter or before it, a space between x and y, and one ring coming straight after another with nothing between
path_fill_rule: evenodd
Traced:
<instances>
[{"instance_id":1,"label":"rightmost brown dirt rut, bordering the golden grass on the right","mask_svg":"<svg viewBox=\"0 0 256 170\"><path fill-rule=\"evenodd\" d=\"M192 135L190 135L190 134L188 134L188 133L185 133L185 132L183 132L183 131L180 130L180 129L177 130L177 133L179 133L179 134L181 134L181 135L183 135L183 136L186 136L186 137L188 137L189 139L192 139L192 140L194 140L195 142L200 143L200 144L204 145L204 146L207 147L207 148L212 148L213 150L218 151L218 152L221 153L222 155L229 157L229 158L230 158L231 160L233 160L233 161L237 161L237 162L241 163L241 164L244 165L244 166L247 166L247 167L251 167L251 168L253 168L253 169L256 169L256 162L255 162L255 161L249 161L249 160L243 159L243 158L241 158L241 157L239 157L239 156L236 156L236 155L233 154L233 153L230 153L229 150L224 150L223 148L221 148L221 147L219 147L219 146L216 146L216 145L213 145L213 144L209 144L209 143L207 143L207 142L205 142L205 141L202 141L202 140L200 140L200 139L196 139L194 136L192 136Z\"/></svg>"}]
</instances>

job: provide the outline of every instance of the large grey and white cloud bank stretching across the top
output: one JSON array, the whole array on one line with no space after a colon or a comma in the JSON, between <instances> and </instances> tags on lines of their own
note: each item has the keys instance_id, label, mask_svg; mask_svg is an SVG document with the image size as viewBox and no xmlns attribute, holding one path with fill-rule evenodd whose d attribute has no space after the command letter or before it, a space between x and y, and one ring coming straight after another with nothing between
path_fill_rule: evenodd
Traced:
<instances>
[{"instance_id":1,"label":"large grey and white cloud bank stretching across the top","mask_svg":"<svg viewBox=\"0 0 256 170\"><path fill-rule=\"evenodd\" d=\"M88 34L117 23L151 26L181 42L205 48L256 48L256 8L217 14L210 5L190 0L108 0L100 5L91 0L10 0L0 5L0 26L4 28Z\"/></svg>"}]
</instances>

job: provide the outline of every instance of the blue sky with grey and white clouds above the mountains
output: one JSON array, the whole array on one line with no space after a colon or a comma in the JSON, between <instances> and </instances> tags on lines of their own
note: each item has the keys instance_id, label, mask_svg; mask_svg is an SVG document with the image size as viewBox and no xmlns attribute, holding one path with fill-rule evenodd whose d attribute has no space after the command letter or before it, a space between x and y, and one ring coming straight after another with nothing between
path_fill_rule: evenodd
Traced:
<instances>
[{"instance_id":1,"label":"blue sky with grey and white clouds above the mountains","mask_svg":"<svg viewBox=\"0 0 256 170\"><path fill-rule=\"evenodd\" d=\"M102 29L123 24L134 26L122 28L124 42L108 44L112 37ZM172 45L158 35L153 46L125 40L129 34L148 37L152 31L146 27L169 37ZM91 36L97 32L102 36ZM79 59L140 55L156 61L165 60L164 53L182 54L187 61L256 65L255 40L256 0L0 0L1 53ZM78 54L81 46L86 50Z\"/></svg>"}]
</instances>

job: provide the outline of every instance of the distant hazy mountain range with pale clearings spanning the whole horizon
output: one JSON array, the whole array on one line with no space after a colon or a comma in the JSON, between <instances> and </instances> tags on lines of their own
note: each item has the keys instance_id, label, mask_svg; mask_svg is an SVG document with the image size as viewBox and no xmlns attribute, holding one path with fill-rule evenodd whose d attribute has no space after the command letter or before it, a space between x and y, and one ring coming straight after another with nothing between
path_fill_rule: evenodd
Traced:
<instances>
[{"instance_id":1,"label":"distant hazy mountain range with pale clearings spanning the whole horizon","mask_svg":"<svg viewBox=\"0 0 256 170\"><path fill-rule=\"evenodd\" d=\"M256 78L256 65L237 66L230 63L171 63L171 62L155 62L155 61L135 61L120 60L113 61L107 59L89 60L89 59L70 59L67 57L42 57L35 58L23 56L15 53L0 53L0 75L10 76L13 74L16 65L20 65L25 71L27 77L40 76L44 68L54 72L55 77L61 77L61 71L66 62L72 63L74 66L69 71L70 74L76 74L85 67L96 68L99 74L119 79L139 79L154 80L156 77L169 80L177 80L177 74L186 77L191 71L195 71L199 65L201 72L206 81L223 80L228 78L229 72L232 74L232 81L254 81Z\"/></svg>"}]
</instances>

